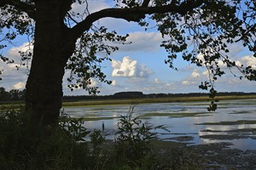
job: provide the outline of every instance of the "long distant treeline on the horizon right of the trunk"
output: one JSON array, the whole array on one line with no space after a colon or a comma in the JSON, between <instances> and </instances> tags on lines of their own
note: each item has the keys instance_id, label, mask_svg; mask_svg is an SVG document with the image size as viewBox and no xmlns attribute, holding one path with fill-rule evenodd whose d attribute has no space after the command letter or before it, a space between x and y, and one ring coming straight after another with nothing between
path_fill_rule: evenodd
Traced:
<instances>
[{"instance_id":1,"label":"long distant treeline on the horizon right of the trunk","mask_svg":"<svg viewBox=\"0 0 256 170\"><path fill-rule=\"evenodd\" d=\"M90 99L143 99L143 98L167 98L167 97L196 97L208 96L207 93L189 93L189 94L143 94L143 92L119 92L113 95L77 95L64 96L63 101L81 101ZM218 96L242 96L256 95L256 93L243 92L220 92Z\"/></svg>"}]
</instances>

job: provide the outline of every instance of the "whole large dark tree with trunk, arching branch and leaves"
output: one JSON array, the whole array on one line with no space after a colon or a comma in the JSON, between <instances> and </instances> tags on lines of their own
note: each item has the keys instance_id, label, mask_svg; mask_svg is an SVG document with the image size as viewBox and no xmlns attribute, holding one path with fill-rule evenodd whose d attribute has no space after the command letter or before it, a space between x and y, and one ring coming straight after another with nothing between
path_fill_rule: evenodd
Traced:
<instances>
[{"instance_id":1,"label":"whole large dark tree with trunk, arching branch and leaves","mask_svg":"<svg viewBox=\"0 0 256 170\"><path fill-rule=\"evenodd\" d=\"M100 63L118 48L109 42L125 43L125 36L94 22L106 17L137 22L148 26L155 23L168 40L166 64L175 69L172 61L181 55L184 60L206 66L209 80L201 83L214 97L214 82L224 71L218 65L241 71L240 78L255 81L256 71L250 65L237 65L229 57L228 46L242 42L255 54L256 2L250 0L115 0L114 8L90 14L86 0L1 0L1 42L12 42L17 35L28 35L32 50L20 52L21 60L32 59L26 82L26 110L32 110L35 120L44 125L55 124L61 109L62 78L65 69L71 71L69 87L90 88L90 78L110 83L101 71ZM84 5L84 13L72 10L71 5ZM145 20L147 19L147 20ZM3 28L5 30L3 30ZM0 46L4 48L5 43ZM104 52L106 56L99 56ZM201 54L203 59L197 56ZM4 62L11 59L1 56Z\"/></svg>"}]
</instances>

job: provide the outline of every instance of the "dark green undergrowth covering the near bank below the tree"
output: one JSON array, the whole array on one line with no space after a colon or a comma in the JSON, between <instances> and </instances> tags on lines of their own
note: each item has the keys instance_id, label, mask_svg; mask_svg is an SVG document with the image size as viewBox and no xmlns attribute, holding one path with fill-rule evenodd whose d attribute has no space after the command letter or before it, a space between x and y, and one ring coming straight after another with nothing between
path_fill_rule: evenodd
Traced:
<instances>
[{"instance_id":1,"label":"dark green undergrowth covering the near bank below the tree","mask_svg":"<svg viewBox=\"0 0 256 170\"><path fill-rule=\"evenodd\" d=\"M165 127L143 122L133 115L134 108L121 116L114 142L106 140L103 124L102 131L90 132L83 119L64 111L57 126L44 127L28 123L32 119L22 109L1 110L0 169L150 170L192 165L189 156L179 152L160 157L151 141L154 130ZM85 141L88 137L90 142Z\"/></svg>"}]
</instances>

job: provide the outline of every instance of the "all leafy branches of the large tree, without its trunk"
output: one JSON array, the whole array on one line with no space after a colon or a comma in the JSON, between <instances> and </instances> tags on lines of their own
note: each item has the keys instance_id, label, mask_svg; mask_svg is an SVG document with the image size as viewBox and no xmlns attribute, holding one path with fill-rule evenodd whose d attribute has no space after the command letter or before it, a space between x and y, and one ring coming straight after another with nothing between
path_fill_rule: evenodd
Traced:
<instances>
[{"instance_id":1,"label":"all leafy branches of the large tree, without its trunk","mask_svg":"<svg viewBox=\"0 0 256 170\"><path fill-rule=\"evenodd\" d=\"M66 69L70 71L68 85L71 90L84 88L91 94L98 93L98 88L91 86L95 79L99 82L111 83L102 72L101 63L113 51L118 50L115 43L125 43L127 35L119 36L115 31L98 27L95 21L105 17L135 21L140 26L155 24L162 37L166 40L160 44L168 54L166 64L176 69L173 60L181 56L185 61L197 66L204 66L209 73L209 80L201 82L199 88L215 90L214 83L224 75L219 65L222 61L228 69L237 69L243 77L250 81L256 80L256 71L252 65L238 65L230 56L230 45L241 43L255 54L255 5L251 0L115 0L116 8L106 8L90 13L89 2L86 0L67 0L55 2L60 5L61 26L67 37L77 40L73 54L67 59ZM28 35L33 44L37 17L37 2L26 0L3 0L1 8L1 37L4 42L12 43L19 35ZM54 3L49 3L54 4ZM74 11L72 4L81 5L84 11ZM146 18L147 17L147 18ZM147 20L146 20L147 19ZM32 59L32 52L20 52L21 60ZM199 57L201 56L201 57ZM3 62L14 62L1 55ZM63 65L64 66L64 65ZM3 71L0 69L0 74ZM211 90L212 89L212 90Z\"/></svg>"}]
</instances>

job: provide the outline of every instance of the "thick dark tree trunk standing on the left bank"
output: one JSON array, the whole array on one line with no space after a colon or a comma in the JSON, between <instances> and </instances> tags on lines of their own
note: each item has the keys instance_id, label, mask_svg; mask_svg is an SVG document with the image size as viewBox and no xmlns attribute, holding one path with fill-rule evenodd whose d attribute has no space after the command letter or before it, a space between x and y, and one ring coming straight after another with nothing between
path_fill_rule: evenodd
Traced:
<instances>
[{"instance_id":1,"label":"thick dark tree trunk standing on the left bank","mask_svg":"<svg viewBox=\"0 0 256 170\"><path fill-rule=\"evenodd\" d=\"M36 1L37 22L30 75L26 82L26 111L43 125L54 125L61 109L62 78L75 41L68 37L59 0Z\"/></svg>"}]
</instances>

